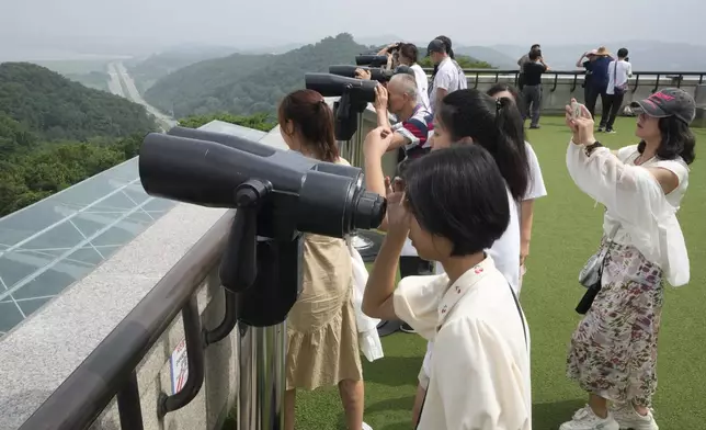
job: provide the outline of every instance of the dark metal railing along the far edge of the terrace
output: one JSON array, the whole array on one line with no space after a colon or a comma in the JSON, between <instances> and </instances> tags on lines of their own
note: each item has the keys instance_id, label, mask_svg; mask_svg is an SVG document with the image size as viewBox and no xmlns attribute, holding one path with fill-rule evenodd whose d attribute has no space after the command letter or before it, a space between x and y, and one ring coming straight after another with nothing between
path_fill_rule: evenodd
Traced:
<instances>
[{"instance_id":1,"label":"dark metal railing along the far edge of the terrace","mask_svg":"<svg viewBox=\"0 0 706 430\"><path fill-rule=\"evenodd\" d=\"M520 75L520 70L513 69L513 70L501 70L501 69L463 69L464 72L466 73L466 77L472 78L474 79L474 86L472 88L478 88L478 82L480 80L480 77L488 77L488 76L494 76L496 82L500 82L500 78L505 78L503 80L512 79L514 80L514 83L517 84L517 76ZM426 73L432 73L433 69L431 68L424 68L424 71ZM572 81L572 87L571 91L574 91L579 82L583 82L583 77L585 75L585 70L548 70L545 76L551 76L554 77L554 86L549 89L549 91L554 92L557 89L557 84L559 83L559 79L573 79ZM670 84L676 86L676 88L680 88L682 86L682 82L684 80L693 80L696 81L698 80L698 84L704 83L704 77L706 77L706 71L633 71L633 78L630 79L631 83L631 91L635 92L637 91L637 88L640 86L640 78L646 79L649 78L650 80L654 80L654 87L652 88L652 92L657 92L657 90L660 87L661 81L667 83L667 80L669 80ZM688 78L688 79L685 79Z\"/></svg>"}]
</instances>

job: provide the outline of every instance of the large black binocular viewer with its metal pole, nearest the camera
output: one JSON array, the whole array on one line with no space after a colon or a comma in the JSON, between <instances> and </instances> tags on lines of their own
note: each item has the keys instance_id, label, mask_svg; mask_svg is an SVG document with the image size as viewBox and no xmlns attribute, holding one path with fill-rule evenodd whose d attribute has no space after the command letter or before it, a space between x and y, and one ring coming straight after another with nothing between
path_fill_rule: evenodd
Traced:
<instances>
[{"instance_id":1,"label":"large black binocular viewer with its metal pole, nearest the camera","mask_svg":"<svg viewBox=\"0 0 706 430\"><path fill-rule=\"evenodd\" d=\"M145 137L139 174L150 195L236 208L219 274L237 298L238 420L243 430L283 428L284 321L301 290L301 235L375 228L385 199L364 190L358 168L182 127Z\"/></svg>"}]
</instances>

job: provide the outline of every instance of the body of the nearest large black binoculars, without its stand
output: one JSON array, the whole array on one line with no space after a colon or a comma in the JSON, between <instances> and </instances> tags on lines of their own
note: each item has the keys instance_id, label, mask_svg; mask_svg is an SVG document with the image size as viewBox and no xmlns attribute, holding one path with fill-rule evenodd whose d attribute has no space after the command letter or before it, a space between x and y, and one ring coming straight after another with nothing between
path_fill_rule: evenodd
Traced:
<instances>
[{"instance_id":1,"label":"body of the nearest large black binoculars, without its stand","mask_svg":"<svg viewBox=\"0 0 706 430\"><path fill-rule=\"evenodd\" d=\"M145 137L139 176L152 196L231 208L253 199L258 234L272 238L297 231L342 238L377 227L387 207L384 197L364 190L358 168L184 127ZM253 180L260 185L251 186ZM252 190L238 194L243 184Z\"/></svg>"}]
</instances>

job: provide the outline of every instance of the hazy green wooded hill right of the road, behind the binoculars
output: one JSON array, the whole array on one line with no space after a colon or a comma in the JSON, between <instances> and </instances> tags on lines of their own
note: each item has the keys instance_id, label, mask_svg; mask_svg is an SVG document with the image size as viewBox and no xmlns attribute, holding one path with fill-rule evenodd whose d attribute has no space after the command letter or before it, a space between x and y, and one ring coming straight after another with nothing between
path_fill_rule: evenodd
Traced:
<instances>
[{"instance_id":1,"label":"hazy green wooded hill right of the road, behind the binoculars","mask_svg":"<svg viewBox=\"0 0 706 430\"><path fill-rule=\"evenodd\" d=\"M191 65L160 79L145 99L175 117L208 112L248 115L274 112L288 92L304 88L304 73L329 65L354 64L368 47L350 34L327 37L281 55L242 55Z\"/></svg>"}]
</instances>

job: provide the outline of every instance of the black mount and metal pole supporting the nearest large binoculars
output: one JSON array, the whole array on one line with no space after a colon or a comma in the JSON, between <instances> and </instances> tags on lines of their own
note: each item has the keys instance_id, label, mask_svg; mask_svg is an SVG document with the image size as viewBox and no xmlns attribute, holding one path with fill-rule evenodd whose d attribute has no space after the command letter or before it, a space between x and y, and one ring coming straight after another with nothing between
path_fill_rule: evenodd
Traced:
<instances>
[{"instance_id":1,"label":"black mount and metal pole supporting the nearest large binoculars","mask_svg":"<svg viewBox=\"0 0 706 430\"><path fill-rule=\"evenodd\" d=\"M270 191L259 180L236 189L236 216L219 270L221 284L237 297L238 430L284 428L285 319L300 292L301 239L298 233L274 239L259 231L259 210Z\"/></svg>"}]
</instances>

